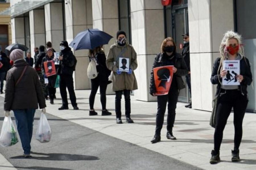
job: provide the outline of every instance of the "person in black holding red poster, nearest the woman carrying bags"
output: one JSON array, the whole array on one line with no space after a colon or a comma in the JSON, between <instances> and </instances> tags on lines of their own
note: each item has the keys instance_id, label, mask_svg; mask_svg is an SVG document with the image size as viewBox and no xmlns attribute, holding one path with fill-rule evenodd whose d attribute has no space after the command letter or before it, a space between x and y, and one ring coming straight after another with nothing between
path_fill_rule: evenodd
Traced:
<instances>
[{"instance_id":1,"label":"person in black holding red poster, nearest the woman carrying bags","mask_svg":"<svg viewBox=\"0 0 256 170\"><path fill-rule=\"evenodd\" d=\"M55 74L55 75L47 76L46 69L44 68L44 62L51 61L51 60L53 60L53 58L54 58L53 50L50 48L47 50L46 57L44 57L42 59L42 74L43 74L44 78L48 79L47 88L48 88L48 94L49 94L51 104L53 104L53 99L55 98L55 91L56 91L55 83L56 83L57 75ZM56 69L55 69L55 71L56 71Z\"/></svg>"}]
</instances>

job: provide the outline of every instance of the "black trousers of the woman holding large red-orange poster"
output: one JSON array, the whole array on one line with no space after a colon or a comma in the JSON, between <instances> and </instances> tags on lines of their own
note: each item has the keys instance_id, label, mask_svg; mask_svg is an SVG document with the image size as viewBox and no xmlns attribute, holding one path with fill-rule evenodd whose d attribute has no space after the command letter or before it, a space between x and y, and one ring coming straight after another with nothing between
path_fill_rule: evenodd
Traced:
<instances>
[{"instance_id":1,"label":"black trousers of the woman holding large red-orange poster","mask_svg":"<svg viewBox=\"0 0 256 170\"><path fill-rule=\"evenodd\" d=\"M176 116L176 105L179 97L179 90L177 87L171 87L168 95L158 96L158 113L156 113L156 128L155 134L160 135L163 128L164 113L166 113L166 105L168 101L168 114L167 114L167 131L172 131Z\"/></svg>"}]
</instances>

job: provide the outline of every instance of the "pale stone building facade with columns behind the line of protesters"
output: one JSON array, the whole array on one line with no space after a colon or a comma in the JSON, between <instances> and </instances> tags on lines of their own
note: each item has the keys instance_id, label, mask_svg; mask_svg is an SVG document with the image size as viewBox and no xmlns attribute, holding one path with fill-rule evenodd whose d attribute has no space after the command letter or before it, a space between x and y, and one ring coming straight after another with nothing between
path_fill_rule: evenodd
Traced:
<instances>
[{"instance_id":1,"label":"pale stone building facade with columns behind the line of protesters","mask_svg":"<svg viewBox=\"0 0 256 170\"><path fill-rule=\"evenodd\" d=\"M13 42L26 44L30 49L52 41L53 48L58 50L61 40L71 42L77 33L98 28L114 37L104 46L108 53L115 42L115 33L119 29L126 31L138 56L138 69L135 70L138 90L134 95L142 101L156 100L149 94L148 86L152 63L164 38L174 37L177 51L181 52L181 34L189 32L192 108L211 111L216 87L210 83L210 75L226 31L242 34L245 54L255 76L256 31L251 29L256 26L255 7L254 0L246 3L243 0L34 0L30 3L19 0L11 1L9 11L1 15L8 12L11 15ZM78 50L75 56L78 61L75 88L89 89L88 51ZM255 112L256 91L251 86L248 90L248 110ZM187 102L188 98L188 89L181 90L179 101Z\"/></svg>"}]
</instances>

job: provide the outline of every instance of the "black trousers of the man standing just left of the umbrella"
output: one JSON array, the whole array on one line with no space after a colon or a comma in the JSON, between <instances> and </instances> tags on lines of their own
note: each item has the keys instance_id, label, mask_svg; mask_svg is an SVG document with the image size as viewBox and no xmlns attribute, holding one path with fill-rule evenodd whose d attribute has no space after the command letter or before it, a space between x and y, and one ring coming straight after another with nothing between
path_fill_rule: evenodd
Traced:
<instances>
[{"instance_id":1,"label":"black trousers of the man standing just left of the umbrella","mask_svg":"<svg viewBox=\"0 0 256 170\"><path fill-rule=\"evenodd\" d=\"M68 88L69 98L71 100L72 106L76 107L77 103L76 103L76 94L75 94L74 85L73 85L73 76L67 75L67 74L61 74L60 75L60 95L62 99L62 105L64 107L68 106L68 96L67 96L66 88Z\"/></svg>"}]
</instances>

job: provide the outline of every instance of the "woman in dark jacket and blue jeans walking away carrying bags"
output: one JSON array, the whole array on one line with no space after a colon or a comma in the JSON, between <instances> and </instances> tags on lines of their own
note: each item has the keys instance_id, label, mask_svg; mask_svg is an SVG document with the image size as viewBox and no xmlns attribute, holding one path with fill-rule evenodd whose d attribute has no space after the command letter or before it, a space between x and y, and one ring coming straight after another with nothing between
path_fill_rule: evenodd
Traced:
<instances>
[{"instance_id":1,"label":"woman in dark jacket and blue jeans walking away carrying bags","mask_svg":"<svg viewBox=\"0 0 256 170\"><path fill-rule=\"evenodd\" d=\"M13 67L7 72L5 94L5 116L14 112L15 121L22 142L25 158L30 157L30 142L33 131L35 110L46 113L46 101L36 71L23 59L23 51L15 49L10 54Z\"/></svg>"}]
</instances>

